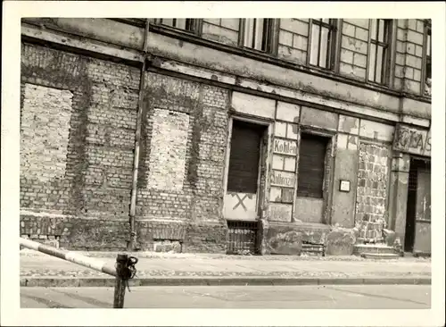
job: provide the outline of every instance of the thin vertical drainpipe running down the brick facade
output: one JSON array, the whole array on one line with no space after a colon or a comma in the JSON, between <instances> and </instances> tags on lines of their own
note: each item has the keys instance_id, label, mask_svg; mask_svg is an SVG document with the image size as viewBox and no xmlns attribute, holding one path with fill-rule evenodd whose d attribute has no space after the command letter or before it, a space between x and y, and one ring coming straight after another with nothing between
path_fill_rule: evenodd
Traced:
<instances>
[{"instance_id":1,"label":"thin vertical drainpipe running down the brick facade","mask_svg":"<svg viewBox=\"0 0 446 327\"><path fill-rule=\"evenodd\" d=\"M138 112L136 115L136 133L135 133L135 156L133 158L133 179L132 179L132 193L130 198L130 239L128 242L128 250L136 251L136 226L135 226L135 212L136 212L136 192L137 192L137 179L139 169L139 150L141 147L141 128L143 120L143 105L144 105L144 90L145 90L145 65L147 62L147 43L149 37L149 20L145 20L145 35L143 46L143 67L141 68L141 76L139 79L139 95L138 95Z\"/></svg>"}]
</instances>

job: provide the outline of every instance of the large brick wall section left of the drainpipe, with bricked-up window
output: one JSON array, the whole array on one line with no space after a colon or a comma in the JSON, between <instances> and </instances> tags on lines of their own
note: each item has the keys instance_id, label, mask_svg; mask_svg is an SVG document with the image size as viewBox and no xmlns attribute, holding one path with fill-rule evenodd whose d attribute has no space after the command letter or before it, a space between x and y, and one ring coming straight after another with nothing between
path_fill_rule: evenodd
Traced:
<instances>
[{"instance_id":1,"label":"large brick wall section left of the drainpipe, with bricked-up window","mask_svg":"<svg viewBox=\"0 0 446 327\"><path fill-rule=\"evenodd\" d=\"M126 247L138 83L136 68L22 44L21 235Z\"/></svg>"}]
</instances>

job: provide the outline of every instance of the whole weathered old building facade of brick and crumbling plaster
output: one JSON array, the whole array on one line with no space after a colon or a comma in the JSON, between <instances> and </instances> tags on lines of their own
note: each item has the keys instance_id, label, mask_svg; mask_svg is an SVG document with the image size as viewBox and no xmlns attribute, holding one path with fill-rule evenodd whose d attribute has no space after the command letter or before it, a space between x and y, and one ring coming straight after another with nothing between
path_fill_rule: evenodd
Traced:
<instances>
[{"instance_id":1,"label":"whole weathered old building facade of brick and crumbling plaster","mask_svg":"<svg viewBox=\"0 0 446 327\"><path fill-rule=\"evenodd\" d=\"M416 19L23 19L21 235L335 255L394 231L429 254L430 36Z\"/></svg>"}]
</instances>

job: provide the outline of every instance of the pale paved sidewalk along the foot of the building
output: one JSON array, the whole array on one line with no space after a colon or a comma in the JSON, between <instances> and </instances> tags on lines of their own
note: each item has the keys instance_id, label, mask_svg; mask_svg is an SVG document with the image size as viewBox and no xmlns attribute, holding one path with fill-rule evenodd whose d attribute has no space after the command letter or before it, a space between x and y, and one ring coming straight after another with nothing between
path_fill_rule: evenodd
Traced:
<instances>
[{"instance_id":1,"label":"pale paved sidewalk along the foot of the building","mask_svg":"<svg viewBox=\"0 0 446 327\"><path fill-rule=\"evenodd\" d=\"M117 253L81 253L113 265ZM226 256L136 253L145 285L429 284L431 260L357 256ZM113 277L31 250L21 251L21 286L112 286Z\"/></svg>"}]
</instances>

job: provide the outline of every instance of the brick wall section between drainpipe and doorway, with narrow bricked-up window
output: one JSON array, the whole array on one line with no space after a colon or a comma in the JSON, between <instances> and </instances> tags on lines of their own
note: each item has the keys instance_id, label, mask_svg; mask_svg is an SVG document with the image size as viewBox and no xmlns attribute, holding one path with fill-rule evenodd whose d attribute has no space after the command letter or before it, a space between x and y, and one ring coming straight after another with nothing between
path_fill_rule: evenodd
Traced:
<instances>
[{"instance_id":1,"label":"brick wall section between drainpipe and doorway, with narrow bricked-up window","mask_svg":"<svg viewBox=\"0 0 446 327\"><path fill-rule=\"evenodd\" d=\"M143 230L159 229L155 226L159 221L171 222L172 229L187 223L182 239L186 250L198 250L202 243L220 251L226 242L221 213L227 90L156 73L148 73L146 79L136 203L139 223ZM192 236L197 229L206 230L207 235L200 237L204 239ZM151 233L141 231L140 236L142 247L151 247Z\"/></svg>"}]
</instances>

